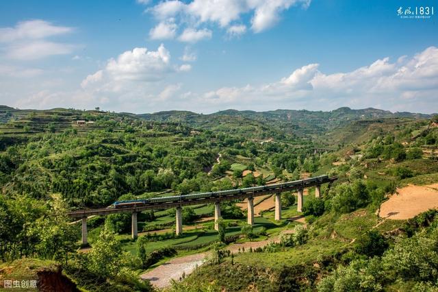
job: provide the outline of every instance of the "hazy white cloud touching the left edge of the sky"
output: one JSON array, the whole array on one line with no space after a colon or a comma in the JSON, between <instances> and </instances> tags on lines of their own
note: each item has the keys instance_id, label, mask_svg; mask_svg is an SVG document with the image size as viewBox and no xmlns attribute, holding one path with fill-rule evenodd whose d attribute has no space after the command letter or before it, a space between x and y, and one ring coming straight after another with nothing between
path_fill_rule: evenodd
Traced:
<instances>
[{"instance_id":1,"label":"hazy white cloud touching the left edge of the sky","mask_svg":"<svg viewBox=\"0 0 438 292\"><path fill-rule=\"evenodd\" d=\"M65 55L75 49L75 45L47 40L73 32L73 27L53 25L48 21L22 21L15 27L0 28L6 58L15 60L36 60L53 55Z\"/></svg>"}]
</instances>

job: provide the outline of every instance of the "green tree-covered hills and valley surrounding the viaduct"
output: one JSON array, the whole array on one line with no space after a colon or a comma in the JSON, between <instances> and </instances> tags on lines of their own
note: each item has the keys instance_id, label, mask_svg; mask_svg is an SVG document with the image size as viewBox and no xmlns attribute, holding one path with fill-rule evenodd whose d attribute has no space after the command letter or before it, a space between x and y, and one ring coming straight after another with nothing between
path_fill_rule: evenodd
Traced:
<instances>
[{"instance_id":1,"label":"green tree-covered hills and valley surrounding the viaduct","mask_svg":"<svg viewBox=\"0 0 438 292\"><path fill-rule=\"evenodd\" d=\"M433 291L435 211L411 220L376 213L396 188L438 182L436 119L350 108L137 115L1 106L0 258L5 266L22 258L54 261L88 291L150 291L141 273L207 250L216 260L171 291ZM281 221L271 208L248 228L240 202L223 203L222 235L213 228L211 204L183 208L180 236L175 209L141 212L136 240L131 215L120 213L89 218L91 249L81 250L80 226L66 217L69 210L120 199L325 173L337 182L322 187L322 199L311 188L303 213L294 194L283 193ZM274 239L233 256L223 252L236 242ZM413 269L422 274L409 273Z\"/></svg>"}]
</instances>

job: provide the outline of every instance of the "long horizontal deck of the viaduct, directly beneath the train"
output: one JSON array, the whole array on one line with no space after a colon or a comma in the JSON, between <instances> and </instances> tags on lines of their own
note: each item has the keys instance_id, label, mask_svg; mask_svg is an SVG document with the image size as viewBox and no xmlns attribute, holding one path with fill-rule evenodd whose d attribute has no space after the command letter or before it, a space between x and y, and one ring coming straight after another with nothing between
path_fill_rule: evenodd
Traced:
<instances>
[{"instance_id":1,"label":"long horizontal deck of the viaduct, directly beneath the train","mask_svg":"<svg viewBox=\"0 0 438 292\"><path fill-rule=\"evenodd\" d=\"M141 212L143 210L153 210L153 209L166 209L173 208L179 206L190 206L190 205L198 205L198 204L206 204L206 203L214 203L214 202L222 202L222 201L232 201L235 199L245 199L247 197L257 197L260 195L269 195L274 193L281 193L285 191L296 191L300 188L309 188L311 186L318 186L325 183L331 183L337 180L336 177L326 178L325 180L318 182L309 182L304 183L300 186L289 186L285 188L276 188L268 191L250 191L250 188L245 193L235 194L235 195L223 195L220 197L200 197L197 199L187 199L185 195L178 196L177 199L170 202L159 203L159 204L145 204L141 207L133 207L133 208L100 208L100 209L90 209L90 210L77 210L73 212L69 212L68 216L73 218L82 218L88 217L92 215L110 215L114 213L120 212ZM256 188L256 187L255 187Z\"/></svg>"}]
</instances>

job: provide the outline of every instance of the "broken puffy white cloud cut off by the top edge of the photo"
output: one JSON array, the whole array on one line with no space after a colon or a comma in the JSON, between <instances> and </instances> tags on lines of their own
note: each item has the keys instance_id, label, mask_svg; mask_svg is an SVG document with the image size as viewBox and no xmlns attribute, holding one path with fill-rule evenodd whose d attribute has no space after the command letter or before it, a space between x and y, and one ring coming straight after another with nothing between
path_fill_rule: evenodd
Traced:
<instances>
[{"instance_id":1,"label":"broken puffy white cloud cut off by the top edge of the photo","mask_svg":"<svg viewBox=\"0 0 438 292\"><path fill-rule=\"evenodd\" d=\"M241 22L242 16L250 14L250 27L253 32L259 33L275 25L284 10L294 5L307 8L309 4L310 0L171 0L161 1L146 9L146 12L153 14L159 21L154 29L164 29L163 23L166 21L177 21L178 26L186 27L178 39L194 42L211 38L211 31L206 28L196 30L193 27L217 24L229 36L240 36L246 32L246 25L235 22Z\"/></svg>"}]
</instances>

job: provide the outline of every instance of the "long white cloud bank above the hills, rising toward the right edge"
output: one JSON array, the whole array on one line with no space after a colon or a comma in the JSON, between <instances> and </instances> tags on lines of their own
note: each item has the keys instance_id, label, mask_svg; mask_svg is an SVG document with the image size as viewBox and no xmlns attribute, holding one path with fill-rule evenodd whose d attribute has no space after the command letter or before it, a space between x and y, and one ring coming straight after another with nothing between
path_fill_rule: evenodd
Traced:
<instances>
[{"instance_id":1,"label":"long white cloud bank above the hills, rising toward the right edge","mask_svg":"<svg viewBox=\"0 0 438 292\"><path fill-rule=\"evenodd\" d=\"M430 104L438 94L436 47L429 47L411 59L390 62L389 58L383 58L346 73L325 74L318 70L318 66L302 66L277 82L223 87L196 98L198 103L203 101L205 107L221 106L222 109L266 110L272 105L275 108L318 110L374 106L431 112Z\"/></svg>"}]
</instances>

